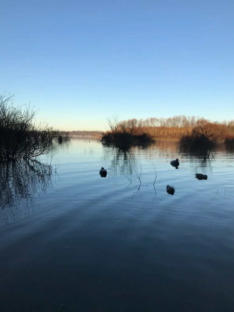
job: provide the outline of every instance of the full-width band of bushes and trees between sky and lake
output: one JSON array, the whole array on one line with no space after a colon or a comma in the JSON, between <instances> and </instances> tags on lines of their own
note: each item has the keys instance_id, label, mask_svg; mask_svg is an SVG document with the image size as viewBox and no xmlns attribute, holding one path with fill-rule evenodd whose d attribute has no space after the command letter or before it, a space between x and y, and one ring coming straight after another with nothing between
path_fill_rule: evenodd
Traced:
<instances>
[{"instance_id":1,"label":"full-width band of bushes and trees between sky and lake","mask_svg":"<svg viewBox=\"0 0 234 312\"><path fill-rule=\"evenodd\" d=\"M30 105L14 106L14 94L0 95L0 160L37 159L53 149L53 143L70 141L72 135L99 136L106 146L129 149L134 145L147 146L154 139L177 139L180 152L207 153L223 142L227 150L234 149L234 120L210 122L195 116L172 118L107 119L109 130L63 131L48 124L36 124L37 111Z\"/></svg>"}]
</instances>

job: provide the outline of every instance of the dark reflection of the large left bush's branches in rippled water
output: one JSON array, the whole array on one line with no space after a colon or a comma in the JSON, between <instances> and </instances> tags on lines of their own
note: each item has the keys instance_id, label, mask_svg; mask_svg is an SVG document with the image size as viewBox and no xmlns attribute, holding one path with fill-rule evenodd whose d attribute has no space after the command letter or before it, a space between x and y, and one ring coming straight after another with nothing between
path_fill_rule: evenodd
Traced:
<instances>
[{"instance_id":1,"label":"dark reflection of the large left bush's branches in rippled water","mask_svg":"<svg viewBox=\"0 0 234 312\"><path fill-rule=\"evenodd\" d=\"M35 210L33 197L53 188L52 167L38 161L0 163L0 221L10 222Z\"/></svg>"}]
</instances>

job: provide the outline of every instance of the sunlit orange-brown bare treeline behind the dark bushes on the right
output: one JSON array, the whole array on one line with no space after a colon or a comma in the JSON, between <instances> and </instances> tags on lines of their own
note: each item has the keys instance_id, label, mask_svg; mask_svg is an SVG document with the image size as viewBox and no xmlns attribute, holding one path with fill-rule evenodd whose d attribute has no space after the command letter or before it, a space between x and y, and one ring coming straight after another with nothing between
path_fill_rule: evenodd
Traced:
<instances>
[{"instance_id":1,"label":"sunlit orange-brown bare treeline behind the dark bushes on the right","mask_svg":"<svg viewBox=\"0 0 234 312\"><path fill-rule=\"evenodd\" d=\"M108 124L110 126L110 120L108 120ZM128 119L122 121L118 121L115 117L111 120L111 124L117 127L118 130L125 129L129 133L137 132L137 134L147 133L154 138L180 138L182 135L190 133L194 127L204 125L218 139L234 136L234 120L211 122L195 116L179 115L170 118ZM118 130L116 129L116 131Z\"/></svg>"}]
</instances>

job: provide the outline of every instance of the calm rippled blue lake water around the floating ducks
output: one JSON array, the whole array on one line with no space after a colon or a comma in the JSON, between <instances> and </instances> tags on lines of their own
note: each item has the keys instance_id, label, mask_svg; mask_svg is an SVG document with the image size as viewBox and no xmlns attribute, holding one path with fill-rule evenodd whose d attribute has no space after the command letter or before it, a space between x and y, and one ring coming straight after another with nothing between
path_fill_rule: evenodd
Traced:
<instances>
[{"instance_id":1,"label":"calm rippled blue lake water around the floating ducks","mask_svg":"<svg viewBox=\"0 0 234 312\"><path fill-rule=\"evenodd\" d=\"M234 154L89 138L56 151L52 174L0 167L1 311L233 312Z\"/></svg>"}]
</instances>

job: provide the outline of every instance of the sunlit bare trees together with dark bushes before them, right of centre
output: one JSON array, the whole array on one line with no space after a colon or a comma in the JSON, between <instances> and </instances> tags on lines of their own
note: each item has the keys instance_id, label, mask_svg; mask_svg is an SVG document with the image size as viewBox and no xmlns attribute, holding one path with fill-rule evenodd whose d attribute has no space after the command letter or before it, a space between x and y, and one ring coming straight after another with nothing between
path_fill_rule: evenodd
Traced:
<instances>
[{"instance_id":1,"label":"sunlit bare trees together with dark bushes before them, right of centre","mask_svg":"<svg viewBox=\"0 0 234 312\"><path fill-rule=\"evenodd\" d=\"M234 145L234 120L211 122L204 118L183 115L171 118L128 119L118 116L107 119L109 129L101 134L105 144L150 143L153 138L178 139L178 149L212 149L217 141L224 141L227 149Z\"/></svg>"}]
</instances>

